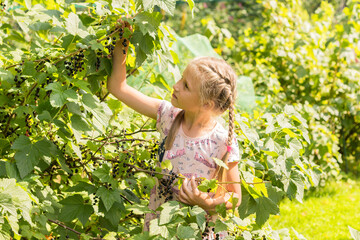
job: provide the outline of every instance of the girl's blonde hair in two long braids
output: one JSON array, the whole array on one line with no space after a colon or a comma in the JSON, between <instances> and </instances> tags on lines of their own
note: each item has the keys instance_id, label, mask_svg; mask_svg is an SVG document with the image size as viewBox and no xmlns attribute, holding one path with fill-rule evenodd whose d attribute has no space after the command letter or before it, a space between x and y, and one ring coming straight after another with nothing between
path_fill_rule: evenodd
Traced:
<instances>
[{"instance_id":1,"label":"girl's blonde hair in two long braids","mask_svg":"<svg viewBox=\"0 0 360 240\"><path fill-rule=\"evenodd\" d=\"M226 145L231 146L234 137L236 73L226 61L214 57L195 58L188 67L191 68L196 79L200 81L200 102L203 104L210 100L213 101L215 108L221 113L229 109L229 131ZM172 148L184 115L185 111L180 111L171 125L165 141L166 150ZM229 152L226 151L222 161L227 164L228 159ZM226 181L226 175L226 169L218 166L214 177L223 182ZM223 192L221 189L219 190Z\"/></svg>"}]
</instances>

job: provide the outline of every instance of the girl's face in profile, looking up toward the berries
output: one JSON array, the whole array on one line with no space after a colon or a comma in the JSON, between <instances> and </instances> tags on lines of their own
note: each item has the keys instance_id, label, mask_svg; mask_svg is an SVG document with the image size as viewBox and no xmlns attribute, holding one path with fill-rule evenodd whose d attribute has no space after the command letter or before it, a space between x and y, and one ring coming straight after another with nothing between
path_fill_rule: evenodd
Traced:
<instances>
[{"instance_id":1,"label":"girl's face in profile, looking up toward the berries","mask_svg":"<svg viewBox=\"0 0 360 240\"><path fill-rule=\"evenodd\" d=\"M198 112L201 107L200 82L197 81L192 71L192 68L188 65L183 72L182 78L173 86L171 103L174 107Z\"/></svg>"}]
</instances>

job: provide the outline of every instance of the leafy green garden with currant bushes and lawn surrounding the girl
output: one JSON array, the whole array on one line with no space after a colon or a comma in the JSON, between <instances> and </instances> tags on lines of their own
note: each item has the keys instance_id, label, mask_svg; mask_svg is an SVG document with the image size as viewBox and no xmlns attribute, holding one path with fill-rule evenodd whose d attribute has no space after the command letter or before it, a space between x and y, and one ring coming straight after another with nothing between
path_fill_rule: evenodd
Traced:
<instances>
[{"instance_id":1,"label":"leafy green garden with currant bushes and lawn surrounding the girl","mask_svg":"<svg viewBox=\"0 0 360 240\"><path fill-rule=\"evenodd\" d=\"M360 1L2 0L0 21L0 239L360 239ZM169 201L142 232L171 164L106 90L124 38L128 83L153 97L195 56L239 76L243 197L215 223Z\"/></svg>"}]
</instances>

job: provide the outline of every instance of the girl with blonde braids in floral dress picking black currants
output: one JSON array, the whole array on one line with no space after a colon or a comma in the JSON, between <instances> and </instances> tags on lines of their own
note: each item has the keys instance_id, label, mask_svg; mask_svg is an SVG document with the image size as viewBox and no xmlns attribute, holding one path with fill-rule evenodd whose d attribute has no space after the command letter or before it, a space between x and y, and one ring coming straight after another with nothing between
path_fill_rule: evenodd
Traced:
<instances>
[{"instance_id":1,"label":"girl with blonde braids in floral dress picking black currants","mask_svg":"<svg viewBox=\"0 0 360 240\"><path fill-rule=\"evenodd\" d=\"M224 61L201 57L192 60L182 78L173 86L171 103L148 97L126 84L127 44L118 42L113 55L113 71L108 79L108 90L120 101L137 112L156 119L164 147L160 160L171 160L174 173L187 178L180 190L173 188L166 200L178 200L198 205L206 211L214 211L225 203L232 208L230 197L241 200L240 184L227 184L222 194L204 193L197 189L196 177L217 178L219 181L240 182L239 150L234 138L234 102L236 97L236 74ZM226 131L216 117L229 109L229 130ZM218 168L213 157L222 159L228 170ZM149 207L156 210L165 202L154 187ZM145 217L148 230L155 214ZM210 239L211 237L209 237Z\"/></svg>"}]
</instances>

